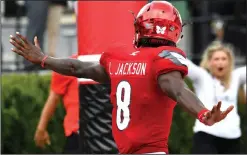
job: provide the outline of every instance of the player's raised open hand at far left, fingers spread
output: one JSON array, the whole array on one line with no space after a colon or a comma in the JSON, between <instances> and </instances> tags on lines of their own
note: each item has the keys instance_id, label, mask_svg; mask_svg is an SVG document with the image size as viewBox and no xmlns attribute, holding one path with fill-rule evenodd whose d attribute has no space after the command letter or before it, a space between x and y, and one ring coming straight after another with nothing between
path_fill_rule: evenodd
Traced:
<instances>
[{"instance_id":1,"label":"player's raised open hand at far left, fingers spread","mask_svg":"<svg viewBox=\"0 0 247 155\"><path fill-rule=\"evenodd\" d=\"M45 57L44 53L40 49L37 37L34 37L35 45L33 45L19 32L16 32L16 36L10 35L9 41L14 45L14 48L11 48L13 52L23 56L34 64L40 64L42 59Z\"/></svg>"}]
</instances>

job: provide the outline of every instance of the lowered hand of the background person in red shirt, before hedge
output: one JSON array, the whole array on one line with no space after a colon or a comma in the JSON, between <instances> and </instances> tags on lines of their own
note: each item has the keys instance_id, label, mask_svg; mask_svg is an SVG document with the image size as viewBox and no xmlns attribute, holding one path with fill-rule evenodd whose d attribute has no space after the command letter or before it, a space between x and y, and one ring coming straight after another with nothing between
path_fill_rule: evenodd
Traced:
<instances>
[{"instance_id":1,"label":"lowered hand of the background person in red shirt, before hedge","mask_svg":"<svg viewBox=\"0 0 247 155\"><path fill-rule=\"evenodd\" d=\"M46 130L37 129L34 136L34 141L37 147L45 148L45 145L50 145L50 136Z\"/></svg>"}]
</instances>

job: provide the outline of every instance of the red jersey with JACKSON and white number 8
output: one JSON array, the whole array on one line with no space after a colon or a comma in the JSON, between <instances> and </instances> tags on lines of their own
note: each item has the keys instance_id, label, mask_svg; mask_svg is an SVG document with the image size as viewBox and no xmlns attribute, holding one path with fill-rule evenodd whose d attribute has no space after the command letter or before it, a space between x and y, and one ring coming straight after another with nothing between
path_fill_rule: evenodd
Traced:
<instances>
[{"instance_id":1,"label":"red jersey with JACKSON and white number 8","mask_svg":"<svg viewBox=\"0 0 247 155\"><path fill-rule=\"evenodd\" d=\"M176 102L159 88L159 75L187 74L186 56L175 47L127 49L103 53L100 63L111 79L112 132L120 153L168 153Z\"/></svg>"}]
</instances>

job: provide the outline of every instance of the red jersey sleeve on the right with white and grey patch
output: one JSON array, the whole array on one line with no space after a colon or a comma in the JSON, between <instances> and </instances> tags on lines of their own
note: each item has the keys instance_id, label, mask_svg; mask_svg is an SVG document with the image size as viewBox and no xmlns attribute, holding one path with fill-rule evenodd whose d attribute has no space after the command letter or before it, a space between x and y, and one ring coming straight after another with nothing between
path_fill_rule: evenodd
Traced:
<instances>
[{"instance_id":1,"label":"red jersey sleeve on the right with white and grey patch","mask_svg":"<svg viewBox=\"0 0 247 155\"><path fill-rule=\"evenodd\" d=\"M171 71L179 71L183 77L188 74L187 59L185 54L172 50L162 50L158 52L153 61L153 71L155 79L158 76Z\"/></svg>"}]
</instances>

